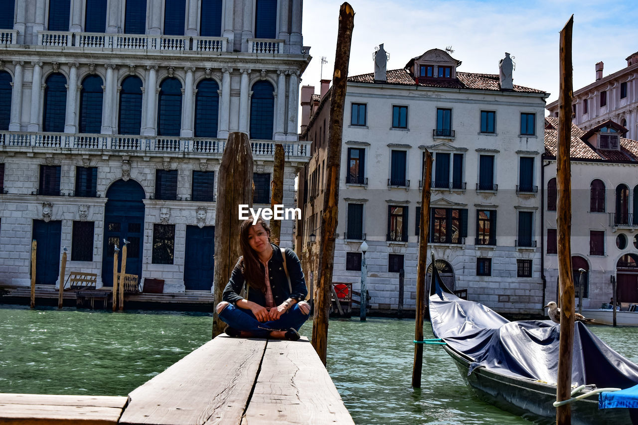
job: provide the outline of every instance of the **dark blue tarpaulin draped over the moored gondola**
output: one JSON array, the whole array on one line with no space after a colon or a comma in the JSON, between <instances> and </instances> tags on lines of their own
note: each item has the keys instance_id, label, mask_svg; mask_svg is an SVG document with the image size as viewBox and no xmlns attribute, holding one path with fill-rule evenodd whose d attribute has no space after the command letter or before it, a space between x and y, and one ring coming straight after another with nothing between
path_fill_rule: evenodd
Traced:
<instances>
[{"instance_id":1,"label":"dark blue tarpaulin draped over the moored gondola","mask_svg":"<svg viewBox=\"0 0 638 425\"><path fill-rule=\"evenodd\" d=\"M432 331L472 361L503 375L556 385L560 325L551 321L510 322L486 306L451 293L433 267L429 296ZM618 354L581 322L574 324L572 385L629 388L638 384L638 365Z\"/></svg>"}]
</instances>

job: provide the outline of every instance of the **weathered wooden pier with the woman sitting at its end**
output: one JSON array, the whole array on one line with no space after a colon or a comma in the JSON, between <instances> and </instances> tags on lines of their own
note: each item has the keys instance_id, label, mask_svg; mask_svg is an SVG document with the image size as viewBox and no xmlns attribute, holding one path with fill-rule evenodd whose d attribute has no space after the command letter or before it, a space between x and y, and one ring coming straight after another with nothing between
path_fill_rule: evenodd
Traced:
<instances>
[{"instance_id":1,"label":"weathered wooden pier with the woman sitting at its end","mask_svg":"<svg viewBox=\"0 0 638 425\"><path fill-rule=\"evenodd\" d=\"M8 424L354 424L308 339L220 335L126 397L0 394Z\"/></svg>"}]
</instances>

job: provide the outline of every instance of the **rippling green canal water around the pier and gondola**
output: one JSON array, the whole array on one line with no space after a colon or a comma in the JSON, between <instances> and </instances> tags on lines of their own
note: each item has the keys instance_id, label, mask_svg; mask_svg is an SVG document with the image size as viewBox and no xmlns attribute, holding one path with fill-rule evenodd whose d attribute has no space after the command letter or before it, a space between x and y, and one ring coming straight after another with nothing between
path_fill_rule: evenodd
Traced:
<instances>
[{"instance_id":1,"label":"rippling green canal water around the pier and gondola","mask_svg":"<svg viewBox=\"0 0 638 425\"><path fill-rule=\"evenodd\" d=\"M638 363L638 328L591 329ZM125 396L210 333L208 313L0 305L0 393ZM413 335L410 319L330 321L328 370L355 423L530 424L476 398L441 347L424 347L422 388L412 389Z\"/></svg>"}]
</instances>

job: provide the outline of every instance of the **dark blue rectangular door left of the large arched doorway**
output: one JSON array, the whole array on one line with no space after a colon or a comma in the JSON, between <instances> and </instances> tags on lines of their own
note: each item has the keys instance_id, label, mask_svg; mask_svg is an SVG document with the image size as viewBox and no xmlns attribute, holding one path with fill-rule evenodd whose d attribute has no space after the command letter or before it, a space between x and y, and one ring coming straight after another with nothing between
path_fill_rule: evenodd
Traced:
<instances>
[{"instance_id":1,"label":"dark blue rectangular door left of the large arched doorway","mask_svg":"<svg viewBox=\"0 0 638 425\"><path fill-rule=\"evenodd\" d=\"M62 222L33 220L36 247L36 284L55 285L60 274L60 236Z\"/></svg>"}]
</instances>

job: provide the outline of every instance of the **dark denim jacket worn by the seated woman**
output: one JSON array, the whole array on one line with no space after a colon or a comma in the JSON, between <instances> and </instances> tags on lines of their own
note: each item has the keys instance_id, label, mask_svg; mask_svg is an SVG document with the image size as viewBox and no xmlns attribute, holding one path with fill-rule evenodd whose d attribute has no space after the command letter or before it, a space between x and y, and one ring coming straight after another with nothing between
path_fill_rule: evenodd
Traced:
<instances>
[{"instance_id":1,"label":"dark denim jacket worn by the seated woman","mask_svg":"<svg viewBox=\"0 0 638 425\"><path fill-rule=\"evenodd\" d=\"M288 279L286 279L286 272L283 268L281 249L274 243L271 243L271 246L272 257L268 261L268 275L271 281L272 298L274 299L275 305L280 305L288 298L302 301L306 298L308 289L306 288L306 279L304 278L304 272L301 270L301 264L299 263L297 254L290 248L286 248L285 250L286 268L288 269L288 275L290 275L291 292L288 288ZM244 273L242 273L240 266L242 258L243 257L239 257L239 261L235 264L235 268L230 275L230 280L228 280L228 284L226 284L221 296L223 301L233 305L237 305L237 301L243 298L239 295L245 282ZM262 267L263 270L263 264L260 263L260 267ZM265 306L266 296L262 291L250 287L248 289L248 301L253 301L253 303Z\"/></svg>"}]
</instances>

